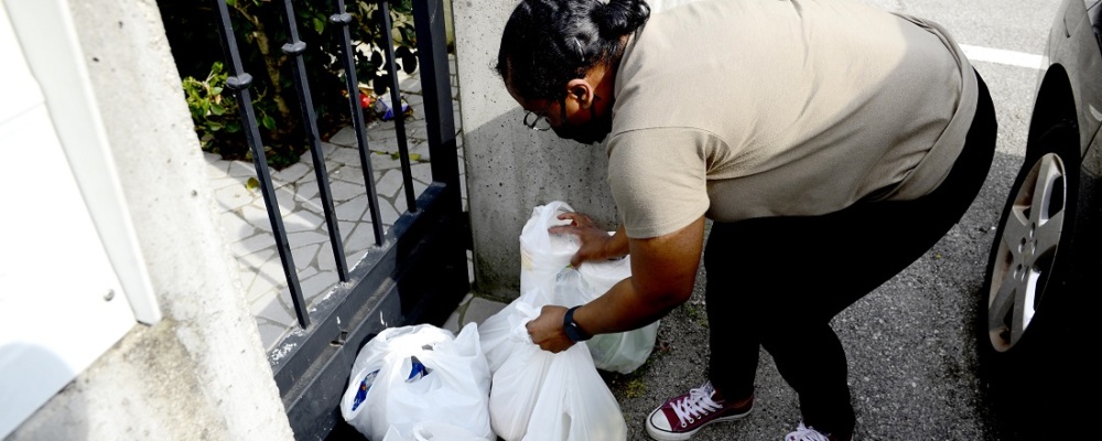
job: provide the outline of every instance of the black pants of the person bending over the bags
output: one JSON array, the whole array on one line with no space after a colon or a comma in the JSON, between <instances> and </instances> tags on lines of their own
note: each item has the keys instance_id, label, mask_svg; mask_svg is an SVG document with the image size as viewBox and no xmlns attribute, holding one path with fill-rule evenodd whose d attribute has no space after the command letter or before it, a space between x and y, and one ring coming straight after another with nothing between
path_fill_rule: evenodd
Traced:
<instances>
[{"instance_id":1,"label":"black pants of the person bending over the bags","mask_svg":"<svg viewBox=\"0 0 1102 441\"><path fill-rule=\"evenodd\" d=\"M845 352L829 322L929 250L980 192L996 122L987 87L976 78L979 103L964 150L929 195L857 203L822 216L712 225L704 251L709 376L724 396L754 391L760 345L799 395L807 426L853 431Z\"/></svg>"}]
</instances>

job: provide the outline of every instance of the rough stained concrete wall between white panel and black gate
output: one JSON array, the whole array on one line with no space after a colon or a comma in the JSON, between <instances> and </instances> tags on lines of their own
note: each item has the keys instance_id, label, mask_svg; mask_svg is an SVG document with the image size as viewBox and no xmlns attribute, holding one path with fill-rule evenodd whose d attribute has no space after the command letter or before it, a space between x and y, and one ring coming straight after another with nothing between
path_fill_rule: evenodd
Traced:
<instances>
[{"instance_id":1,"label":"rough stained concrete wall between white panel and black gate","mask_svg":"<svg viewBox=\"0 0 1102 441\"><path fill-rule=\"evenodd\" d=\"M69 8L164 320L136 325L8 440L292 439L155 2Z\"/></svg>"}]
</instances>

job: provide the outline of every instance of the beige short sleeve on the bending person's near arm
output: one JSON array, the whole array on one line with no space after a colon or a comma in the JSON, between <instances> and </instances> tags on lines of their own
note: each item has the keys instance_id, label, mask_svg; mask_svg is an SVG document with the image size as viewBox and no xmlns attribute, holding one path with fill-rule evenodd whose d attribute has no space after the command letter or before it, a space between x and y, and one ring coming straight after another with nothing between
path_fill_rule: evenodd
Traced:
<instances>
[{"instance_id":1,"label":"beige short sleeve on the bending person's near arm","mask_svg":"<svg viewBox=\"0 0 1102 441\"><path fill-rule=\"evenodd\" d=\"M709 208L707 154L714 136L660 128L615 135L608 142L608 183L631 238L674 233Z\"/></svg>"}]
</instances>

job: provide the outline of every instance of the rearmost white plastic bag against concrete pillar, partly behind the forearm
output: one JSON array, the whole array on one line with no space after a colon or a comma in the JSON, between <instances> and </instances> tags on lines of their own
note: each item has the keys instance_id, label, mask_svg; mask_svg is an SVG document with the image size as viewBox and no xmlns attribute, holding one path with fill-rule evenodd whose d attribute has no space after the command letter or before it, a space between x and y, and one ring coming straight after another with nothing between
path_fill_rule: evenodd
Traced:
<instances>
[{"instance_id":1,"label":"rearmost white plastic bag against concrete pillar, partly behind the forearm","mask_svg":"<svg viewBox=\"0 0 1102 441\"><path fill-rule=\"evenodd\" d=\"M587 261L576 270L570 258L581 244L570 234L552 235L548 228L566 225L559 214L573 212L565 202L554 201L532 209L520 232L520 292L542 287L552 293L548 302L574 306L594 300L620 280L631 276L630 257ZM628 374L642 366L658 338L659 322L627 332L599 334L585 342L594 365L604 370Z\"/></svg>"}]
</instances>

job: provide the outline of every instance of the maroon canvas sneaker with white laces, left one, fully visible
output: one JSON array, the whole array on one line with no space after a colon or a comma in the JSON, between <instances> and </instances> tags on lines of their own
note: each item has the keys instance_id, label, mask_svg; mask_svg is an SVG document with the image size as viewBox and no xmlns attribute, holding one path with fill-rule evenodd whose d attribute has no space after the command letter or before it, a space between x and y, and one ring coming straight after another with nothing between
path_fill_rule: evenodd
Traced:
<instances>
[{"instance_id":1,"label":"maroon canvas sneaker with white laces, left one, fully visible","mask_svg":"<svg viewBox=\"0 0 1102 441\"><path fill-rule=\"evenodd\" d=\"M754 408L754 399L734 406L716 397L712 381L671 398L647 417L647 433L660 441L688 440L704 426L745 417Z\"/></svg>"}]
</instances>

